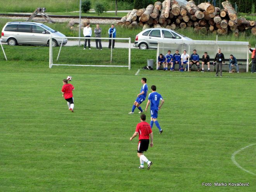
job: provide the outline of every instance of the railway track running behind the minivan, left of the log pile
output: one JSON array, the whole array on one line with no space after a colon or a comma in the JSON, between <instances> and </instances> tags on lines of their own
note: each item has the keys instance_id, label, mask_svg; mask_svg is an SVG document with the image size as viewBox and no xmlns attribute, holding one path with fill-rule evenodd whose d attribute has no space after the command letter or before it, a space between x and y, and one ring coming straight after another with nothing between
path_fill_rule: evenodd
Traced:
<instances>
[{"instance_id":1,"label":"railway track running behind the minivan, left of the log pile","mask_svg":"<svg viewBox=\"0 0 256 192\"><path fill-rule=\"evenodd\" d=\"M0 17L30 17L30 14L0 14ZM62 16L62 15L48 15L51 18L71 18L79 19L79 16ZM36 17L42 17L37 15ZM95 17L95 16L81 16L81 19L117 19L120 20L122 17Z\"/></svg>"}]
</instances>

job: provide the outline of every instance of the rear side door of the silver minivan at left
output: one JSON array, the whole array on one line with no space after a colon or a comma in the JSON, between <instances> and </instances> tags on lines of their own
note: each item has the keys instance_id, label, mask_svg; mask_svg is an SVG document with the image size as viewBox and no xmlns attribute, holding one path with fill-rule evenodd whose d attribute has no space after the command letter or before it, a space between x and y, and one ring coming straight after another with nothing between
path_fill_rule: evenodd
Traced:
<instances>
[{"instance_id":1,"label":"rear side door of the silver minivan at left","mask_svg":"<svg viewBox=\"0 0 256 192\"><path fill-rule=\"evenodd\" d=\"M31 25L19 24L18 33L16 34L18 43L31 43Z\"/></svg>"}]
</instances>

